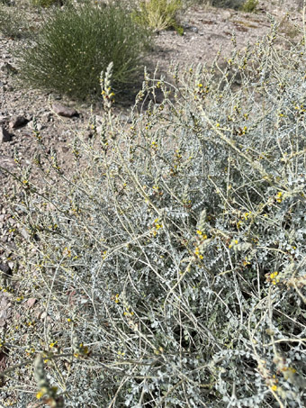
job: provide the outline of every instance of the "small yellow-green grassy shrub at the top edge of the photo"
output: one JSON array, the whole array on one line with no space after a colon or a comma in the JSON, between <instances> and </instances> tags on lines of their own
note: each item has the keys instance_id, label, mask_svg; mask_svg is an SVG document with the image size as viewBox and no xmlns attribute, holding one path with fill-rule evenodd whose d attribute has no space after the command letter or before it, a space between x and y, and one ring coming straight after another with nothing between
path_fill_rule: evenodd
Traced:
<instances>
[{"instance_id":1,"label":"small yellow-green grassy shrub at the top edge of the photo","mask_svg":"<svg viewBox=\"0 0 306 408\"><path fill-rule=\"evenodd\" d=\"M181 0L148 0L139 3L133 16L137 23L155 31L178 28L177 14L182 10Z\"/></svg>"}]
</instances>

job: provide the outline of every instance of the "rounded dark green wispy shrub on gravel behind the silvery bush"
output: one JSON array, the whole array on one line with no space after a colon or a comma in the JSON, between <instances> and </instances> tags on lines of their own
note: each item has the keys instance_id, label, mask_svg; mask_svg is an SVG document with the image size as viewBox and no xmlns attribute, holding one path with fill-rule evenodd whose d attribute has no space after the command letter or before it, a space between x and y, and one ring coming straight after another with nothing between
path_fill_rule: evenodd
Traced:
<instances>
[{"instance_id":1,"label":"rounded dark green wispy shrub on gravel behind the silvery bush","mask_svg":"<svg viewBox=\"0 0 306 408\"><path fill-rule=\"evenodd\" d=\"M116 86L131 83L149 35L118 3L54 9L31 47L19 53L27 86L85 98L100 94L101 71L113 62Z\"/></svg>"}]
</instances>

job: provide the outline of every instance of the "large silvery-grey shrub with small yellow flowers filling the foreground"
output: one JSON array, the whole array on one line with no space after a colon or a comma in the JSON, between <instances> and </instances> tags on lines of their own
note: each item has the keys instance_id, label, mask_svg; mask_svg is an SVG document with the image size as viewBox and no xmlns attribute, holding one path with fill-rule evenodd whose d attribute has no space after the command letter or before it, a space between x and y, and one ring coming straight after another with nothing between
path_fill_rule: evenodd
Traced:
<instances>
[{"instance_id":1,"label":"large silvery-grey shrub with small yellow flowers filling the foreground","mask_svg":"<svg viewBox=\"0 0 306 408\"><path fill-rule=\"evenodd\" d=\"M146 74L125 125L110 67L104 121L90 140L76 131L71 174L34 131L7 197L19 321L3 398L305 406L304 45L276 38L234 49L221 73L216 59L172 67L173 86Z\"/></svg>"}]
</instances>

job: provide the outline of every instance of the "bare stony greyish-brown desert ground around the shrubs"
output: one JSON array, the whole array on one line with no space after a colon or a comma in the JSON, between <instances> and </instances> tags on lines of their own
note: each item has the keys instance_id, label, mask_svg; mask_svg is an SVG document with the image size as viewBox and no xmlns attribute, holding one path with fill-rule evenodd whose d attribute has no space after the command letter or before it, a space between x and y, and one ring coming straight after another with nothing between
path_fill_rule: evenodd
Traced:
<instances>
[{"instance_id":1,"label":"bare stony greyish-brown desert ground around the shrubs","mask_svg":"<svg viewBox=\"0 0 306 408\"><path fill-rule=\"evenodd\" d=\"M268 32L272 15L280 23L280 46L288 47L288 41L297 41L295 24L302 26L300 1L260 1L256 14L236 12L230 9L214 9L193 5L181 16L184 35L174 31L159 32L155 35L154 50L147 61L149 71L159 64L160 73L166 73L171 60L181 66L192 63L211 63L220 48L222 59L229 55L231 35L236 33L239 48L254 43L258 37ZM30 13L26 10L27 13ZM33 16L35 11L31 11ZM59 165L69 169L69 147L74 131L85 131L90 116L90 105L67 100L61 95L48 95L37 90L24 90L16 85L18 65L13 50L25 40L6 38L0 34L0 166L14 170L14 155L23 164L29 165L37 150L33 137L33 118L44 142L58 152ZM129 103L115 107L122 122L128 122ZM102 106L94 106L98 124L103 116ZM8 259L14 252L14 241L10 230L14 219L5 206L4 189L10 190L11 181L4 171L0 171L3 199L0 198L0 269L9 275L14 263ZM12 253L11 253L12 252ZM11 317L9 295L0 292L0 327L4 327ZM0 371L5 367L4 354L0 353Z\"/></svg>"}]
</instances>

